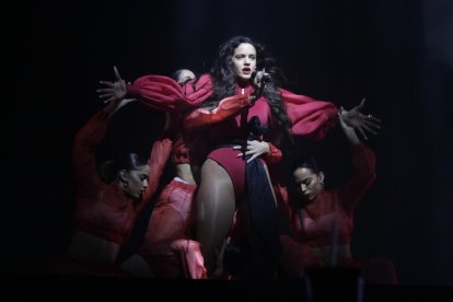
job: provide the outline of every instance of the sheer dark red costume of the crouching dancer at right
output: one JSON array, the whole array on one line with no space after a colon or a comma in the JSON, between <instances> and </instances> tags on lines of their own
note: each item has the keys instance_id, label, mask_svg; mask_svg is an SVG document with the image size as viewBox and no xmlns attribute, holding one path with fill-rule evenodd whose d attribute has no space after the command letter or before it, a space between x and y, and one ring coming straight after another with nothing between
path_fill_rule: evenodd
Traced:
<instances>
[{"instance_id":1,"label":"sheer dark red costume of the crouching dancer at right","mask_svg":"<svg viewBox=\"0 0 453 302\"><path fill-rule=\"evenodd\" d=\"M353 210L374 182L375 156L363 143L352 148L353 176L341 187L323 189L316 200L303 209L293 207L293 239L280 237L283 246L282 262L290 274L300 276L309 266L326 265L312 253L312 248L349 245L353 228ZM361 267L349 256L338 259L338 265Z\"/></svg>"}]
</instances>

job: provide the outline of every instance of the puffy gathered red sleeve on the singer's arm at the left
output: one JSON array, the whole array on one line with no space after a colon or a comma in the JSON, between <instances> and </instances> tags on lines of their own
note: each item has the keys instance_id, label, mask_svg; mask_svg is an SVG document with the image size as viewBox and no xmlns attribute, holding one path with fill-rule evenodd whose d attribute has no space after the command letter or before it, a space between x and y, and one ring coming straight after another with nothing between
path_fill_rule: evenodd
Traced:
<instances>
[{"instance_id":1,"label":"puffy gathered red sleeve on the singer's arm at the left","mask_svg":"<svg viewBox=\"0 0 453 302\"><path fill-rule=\"evenodd\" d=\"M164 76L144 76L127 85L127 96L137 97L153 109L181 112L201 104L212 94L212 81L208 74L198 81L181 86Z\"/></svg>"}]
</instances>

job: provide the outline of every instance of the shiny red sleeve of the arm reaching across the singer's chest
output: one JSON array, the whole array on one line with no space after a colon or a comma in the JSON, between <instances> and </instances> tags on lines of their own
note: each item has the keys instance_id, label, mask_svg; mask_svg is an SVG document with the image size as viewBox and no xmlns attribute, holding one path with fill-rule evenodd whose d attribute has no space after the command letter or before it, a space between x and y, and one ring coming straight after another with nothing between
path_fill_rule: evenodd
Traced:
<instances>
[{"instance_id":1,"label":"shiny red sleeve of the arm reaching across the singer's chest","mask_svg":"<svg viewBox=\"0 0 453 302\"><path fill-rule=\"evenodd\" d=\"M183 119L183 127L187 131L193 131L208 125L220 123L236 115L242 108L248 106L248 94L237 94L220 101L213 109L197 108L191 111Z\"/></svg>"}]
</instances>

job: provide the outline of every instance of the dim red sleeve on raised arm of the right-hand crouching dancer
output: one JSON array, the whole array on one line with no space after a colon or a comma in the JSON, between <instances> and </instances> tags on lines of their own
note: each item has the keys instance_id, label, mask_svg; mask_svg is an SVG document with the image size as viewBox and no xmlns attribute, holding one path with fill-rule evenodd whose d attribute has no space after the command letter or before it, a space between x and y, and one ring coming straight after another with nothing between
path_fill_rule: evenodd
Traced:
<instances>
[{"instance_id":1,"label":"dim red sleeve on raised arm of the right-hand crouching dancer","mask_svg":"<svg viewBox=\"0 0 453 302\"><path fill-rule=\"evenodd\" d=\"M352 164L356 172L340 190L342 207L348 211L353 210L376 178L374 152L363 143L352 148Z\"/></svg>"}]
</instances>

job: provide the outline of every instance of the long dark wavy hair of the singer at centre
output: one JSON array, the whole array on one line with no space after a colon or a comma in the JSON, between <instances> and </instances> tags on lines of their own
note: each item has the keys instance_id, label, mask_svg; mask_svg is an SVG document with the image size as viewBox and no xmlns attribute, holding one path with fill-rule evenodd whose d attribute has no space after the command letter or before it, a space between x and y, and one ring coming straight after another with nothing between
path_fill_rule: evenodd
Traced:
<instances>
[{"instance_id":1,"label":"long dark wavy hair of the singer at centre","mask_svg":"<svg viewBox=\"0 0 453 302\"><path fill-rule=\"evenodd\" d=\"M234 36L220 45L218 57L210 70L213 80L213 96L205 105L209 107L217 106L222 98L234 95L237 78L232 58L234 49L242 43L247 43L255 47L257 70L265 69L270 74L270 80L266 82L263 95L270 106L276 126L292 141L290 135L291 121L288 118L287 109L281 101L281 95L277 86L278 79L282 78L280 68L277 66L276 60L268 54L265 46L254 42L249 37ZM280 139L277 140L279 141Z\"/></svg>"}]
</instances>

